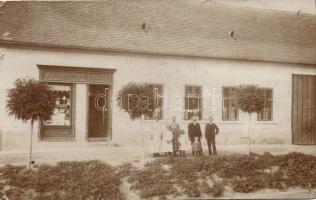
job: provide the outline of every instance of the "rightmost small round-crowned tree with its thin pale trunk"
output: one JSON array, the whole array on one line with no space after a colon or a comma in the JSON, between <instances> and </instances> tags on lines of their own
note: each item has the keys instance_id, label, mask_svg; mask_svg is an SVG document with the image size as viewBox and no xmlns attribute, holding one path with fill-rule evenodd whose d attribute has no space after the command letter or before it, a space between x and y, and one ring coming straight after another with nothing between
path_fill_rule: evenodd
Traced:
<instances>
[{"instance_id":1,"label":"rightmost small round-crowned tree with its thin pale trunk","mask_svg":"<svg viewBox=\"0 0 316 200\"><path fill-rule=\"evenodd\" d=\"M256 85L241 85L237 90L237 102L241 111L248 113L248 154L251 153L251 117L264 108L265 97Z\"/></svg>"}]
</instances>

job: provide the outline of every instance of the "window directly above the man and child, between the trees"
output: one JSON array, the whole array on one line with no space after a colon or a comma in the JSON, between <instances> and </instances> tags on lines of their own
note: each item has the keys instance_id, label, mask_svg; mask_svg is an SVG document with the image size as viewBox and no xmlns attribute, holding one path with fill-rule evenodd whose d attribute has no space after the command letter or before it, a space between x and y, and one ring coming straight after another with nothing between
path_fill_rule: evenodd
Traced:
<instances>
[{"instance_id":1,"label":"window directly above the man and child, between the trees","mask_svg":"<svg viewBox=\"0 0 316 200\"><path fill-rule=\"evenodd\" d=\"M189 120L193 115L202 118L202 87L185 86L184 120Z\"/></svg>"}]
</instances>

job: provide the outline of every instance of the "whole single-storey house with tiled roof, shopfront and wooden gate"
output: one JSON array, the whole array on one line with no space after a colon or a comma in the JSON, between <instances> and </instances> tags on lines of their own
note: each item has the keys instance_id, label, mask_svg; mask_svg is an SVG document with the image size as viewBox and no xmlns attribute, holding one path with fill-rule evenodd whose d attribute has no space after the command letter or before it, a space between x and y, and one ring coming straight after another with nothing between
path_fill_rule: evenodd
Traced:
<instances>
[{"instance_id":1,"label":"whole single-storey house with tiled roof, shopfront and wooden gate","mask_svg":"<svg viewBox=\"0 0 316 200\"><path fill-rule=\"evenodd\" d=\"M213 116L223 145L247 136L235 88L258 85L267 101L253 116L253 142L315 145L315 33L315 15L207 1L2 3L1 149L28 147L29 125L6 111L7 90L24 77L59 96L52 120L36 124L35 149L140 145L152 119L142 126L115 102L98 104L131 81L152 85L165 123L176 116L186 131L195 112L204 134Z\"/></svg>"}]
</instances>

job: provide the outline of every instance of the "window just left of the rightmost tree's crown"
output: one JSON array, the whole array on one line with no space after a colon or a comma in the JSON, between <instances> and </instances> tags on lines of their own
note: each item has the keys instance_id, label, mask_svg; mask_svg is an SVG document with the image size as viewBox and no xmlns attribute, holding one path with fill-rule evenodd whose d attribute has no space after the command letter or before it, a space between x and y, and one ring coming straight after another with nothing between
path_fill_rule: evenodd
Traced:
<instances>
[{"instance_id":1,"label":"window just left of the rightmost tree's crown","mask_svg":"<svg viewBox=\"0 0 316 200\"><path fill-rule=\"evenodd\" d=\"M239 118L238 102L235 96L236 87L223 88L223 121L237 121Z\"/></svg>"}]
</instances>

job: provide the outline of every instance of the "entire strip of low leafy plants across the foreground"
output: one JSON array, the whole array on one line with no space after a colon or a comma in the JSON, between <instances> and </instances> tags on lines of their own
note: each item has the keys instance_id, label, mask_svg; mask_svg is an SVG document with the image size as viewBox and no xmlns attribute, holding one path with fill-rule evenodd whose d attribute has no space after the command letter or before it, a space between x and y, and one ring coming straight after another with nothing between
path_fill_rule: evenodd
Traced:
<instances>
[{"instance_id":1,"label":"entire strip of low leafy plants across the foreground","mask_svg":"<svg viewBox=\"0 0 316 200\"><path fill-rule=\"evenodd\" d=\"M270 153L209 158L159 158L143 169L125 163L117 168L99 161L61 162L0 168L0 179L12 186L8 195L19 199L34 191L37 200L122 199L120 179L127 177L131 190L141 198L166 199L181 195L220 197L226 186L235 192L261 189L316 188L316 157L302 153L273 156ZM25 196L23 196L25 199Z\"/></svg>"}]
</instances>

